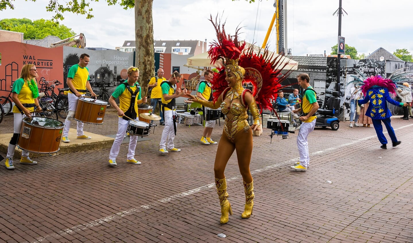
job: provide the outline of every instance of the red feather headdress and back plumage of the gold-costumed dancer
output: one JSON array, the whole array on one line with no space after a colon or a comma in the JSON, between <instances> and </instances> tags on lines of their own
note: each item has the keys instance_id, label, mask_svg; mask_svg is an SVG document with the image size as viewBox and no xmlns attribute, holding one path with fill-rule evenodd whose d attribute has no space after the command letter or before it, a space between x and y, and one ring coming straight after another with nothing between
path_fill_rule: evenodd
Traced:
<instances>
[{"instance_id":1,"label":"red feather headdress and back plumage of the gold-costumed dancer","mask_svg":"<svg viewBox=\"0 0 413 243\"><path fill-rule=\"evenodd\" d=\"M284 57L274 58L274 54L269 54L267 48L258 50L258 53L262 52L262 54L255 54L254 48L244 51L246 43L244 42L241 45L237 36L240 28L237 28L232 38L231 35L225 33L225 23L221 25L217 18L214 22L212 16L210 21L214 25L218 39L212 43L211 49L208 51L211 64L222 59L224 65L224 67L218 69L219 72L211 80L212 88L215 90L213 93L214 101L228 87L228 83L225 81L225 69L228 69L228 66L233 68L233 66L239 65L239 71L242 68L245 69L244 77L241 74L242 83L252 83L254 87L252 94L261 111L262 109L273 110L270 99L276 99L282 80L287 78L290 73L288 71L280 77L282 69L287 65L280 66ZM237 75L238 70L231 71Z\"/></svg>"}]
</instances>

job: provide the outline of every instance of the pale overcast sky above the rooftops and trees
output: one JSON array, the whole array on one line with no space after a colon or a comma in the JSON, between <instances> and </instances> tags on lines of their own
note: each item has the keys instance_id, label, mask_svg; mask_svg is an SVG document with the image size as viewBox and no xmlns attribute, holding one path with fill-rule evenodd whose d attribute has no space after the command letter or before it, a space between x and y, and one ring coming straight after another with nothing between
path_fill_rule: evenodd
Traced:
<instances>
[{"instance_id":1,"label":"pale overcast sky above the rooftops and trees","mask_svg":"<svg viewBox=\"0 0 413 243\"><path fill-rule=\"evenodd\" d=\"M46 12L48 0L25 2L16 0L14 10L0 12L0 19L50 19ZM62 1L61 1L62 2ZM339 0L287 0L287 48L293 55L327 54L337 44L338 17L333 15ZM342 17L342 36L346 44L356 47L359 54L372 53L379 47L389 52L407 48L413 54L413 0L342 0L348 13ZM154 0L153 20L155 40L216 39L209 15L222 15L226 31L234 33L240 25L240 40L262 45L275 12L274 0ZM64 14L61 21L76 33L84 33L86 46L114 49L124 40L134 40L134 10L107 6L106 1L90 3L93 19L76 14ZM28 11L30 9L30 11ZM275 33L268 41L275 50Z\"/></svg>"}]
</instances>

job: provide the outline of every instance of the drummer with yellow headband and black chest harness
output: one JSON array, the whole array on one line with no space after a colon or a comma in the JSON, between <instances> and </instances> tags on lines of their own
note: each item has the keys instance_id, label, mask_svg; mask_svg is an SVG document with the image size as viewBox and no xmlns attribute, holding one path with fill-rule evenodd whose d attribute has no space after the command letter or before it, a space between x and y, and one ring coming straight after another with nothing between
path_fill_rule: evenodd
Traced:
<instances>
[{"instance_id":1,"label":"drummer with yellow headband and black chest harness","mask_svg":"<svg viewBox=\"0 0 413 243\"><path fill-rule=\"evenodd\" d=\"M116 134L115 141L109 154L109 165L117 165L116 157L119 154L119 149L126 130L128 128L129 118L134 120L138 119L138 105L146 103L147 98L141 98L141 88L137 83L139 78L139 69L136 67L128 68L128 80L121 83L109 98L109 103L118 111L118 133ZM116 104L115 99L119 98L119 106ZM131 136L129 141L129 152L126 163L139 165L140 162L134 158L137 136Z\"/></svg>"}]
</instances>

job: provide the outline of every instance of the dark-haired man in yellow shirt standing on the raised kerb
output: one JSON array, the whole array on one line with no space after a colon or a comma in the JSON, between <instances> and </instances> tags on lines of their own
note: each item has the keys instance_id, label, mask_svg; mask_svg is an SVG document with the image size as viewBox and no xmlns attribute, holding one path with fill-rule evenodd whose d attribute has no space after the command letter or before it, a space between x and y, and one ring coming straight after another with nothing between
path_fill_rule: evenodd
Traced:
<instances>
[{"instance_id":1,"label":"dark-haired man in yellow shirt standing on the raised kerb","mask_svg":"<svg viewBox=\"0 0 413 243\"><path fill-rule=\"evenodd\" d=\"M83 53L80 55L79 63L70 67L67 73L67 85L69 86L69 93L67 94L67 99L69 101L69 111L67 113L66 120L64 120L64 130L62 135L62 141L69 143L69 129L72 120L74 119L78 98L84 96L86 92L90 92L92 97L97 95L93 92L92 87L89 83L89 69L86 67L89 64L89 55ZM87 90L86 90L87 89ZM78 139L91 139L91 137L83 133L83 122L77 122L77 138Z\"/></svg>"}]
</instances>

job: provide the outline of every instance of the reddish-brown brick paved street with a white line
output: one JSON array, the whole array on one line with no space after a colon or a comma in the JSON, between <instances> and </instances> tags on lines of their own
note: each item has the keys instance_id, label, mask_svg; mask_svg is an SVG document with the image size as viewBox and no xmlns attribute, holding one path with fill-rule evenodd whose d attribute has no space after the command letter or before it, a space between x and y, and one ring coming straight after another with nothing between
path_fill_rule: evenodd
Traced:
<instances>
[{"instance_id":1,"label":"reddish-brown brick paved street with a white line","mask_svg":"<svg viewBox=\"0 0 413 243\"><path fill-rule=\"evenodd\" d=\"M270 144L264 128L251 160L253 215L241 218L244 188L234 154L225 170L234 215L224 225L214 185L218 146L198 142L201 126L179 124L182 151L169 154L158 152L163 127L156 127L136 147L141 165L126 163L127 144L114 168L109 149L40 157L33 166L15 160L16 169L0 168L0 242L413 242L413 120L393 117L402 143L387 150L373 127L348 125L310 134L306 172L289 168L298 158L297 134ZM12 132L12 116L0 127ZM212 138L219 141L222 130L223 120ZM116 134L116 114L85 131Z\"/></svg>"}]
</instances>

